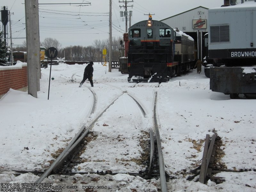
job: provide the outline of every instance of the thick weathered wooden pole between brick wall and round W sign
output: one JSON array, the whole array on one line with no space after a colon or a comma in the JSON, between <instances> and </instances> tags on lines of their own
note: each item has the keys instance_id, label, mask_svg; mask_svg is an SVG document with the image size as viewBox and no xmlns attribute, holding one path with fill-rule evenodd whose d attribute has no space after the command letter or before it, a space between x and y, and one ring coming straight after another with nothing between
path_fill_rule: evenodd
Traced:
<instances>
[{"instance_id":1,"label":"thick weathered wooden pole between brick wall and round W sign","mask_svg":"<svg viewBox=\"0 0 256 192\"><path fill-rule=\"evenodd\" d=\"M25 0L28 94L37 98L40 91L40 43L38 0Z\"/></svg>"}]
</instances>

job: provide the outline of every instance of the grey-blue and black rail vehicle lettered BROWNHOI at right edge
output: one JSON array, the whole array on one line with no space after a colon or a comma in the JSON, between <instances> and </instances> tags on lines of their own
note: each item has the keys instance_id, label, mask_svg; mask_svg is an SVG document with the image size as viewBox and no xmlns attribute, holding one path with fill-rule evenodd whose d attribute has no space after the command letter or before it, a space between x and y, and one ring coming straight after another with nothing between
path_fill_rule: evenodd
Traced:
<instances>
[{"instance_id":1,"label":"grey-blue and black rail vehicle lettered BROWNHOI at right edge","mask_svg":"<svg viewBox=\"0 0 256 192\"><path fill-rule=\"evenodd\" d=\"M231 99L256 94L256 2L236 2L208 10L210 89Z\"/></svg>"}]
</instances>

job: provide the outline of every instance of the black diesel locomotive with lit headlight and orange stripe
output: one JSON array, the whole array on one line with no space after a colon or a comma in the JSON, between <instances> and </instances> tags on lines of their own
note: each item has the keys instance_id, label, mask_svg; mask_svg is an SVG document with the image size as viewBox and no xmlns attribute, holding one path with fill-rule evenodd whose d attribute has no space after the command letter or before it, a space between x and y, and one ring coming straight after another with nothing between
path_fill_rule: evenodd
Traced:
<instances>
[{"instance_id":1,"label":"black diesel locomotive with lit headlight and orange stripe","mask_svg":"<svg viewBox=\"0 0 256 192\"><path fill-rule=\"evenodd\" d=\"M128 82L167 82L195 64L193 39L151 15L132 25L124 42Z\"/></svg>"}]
</instances>

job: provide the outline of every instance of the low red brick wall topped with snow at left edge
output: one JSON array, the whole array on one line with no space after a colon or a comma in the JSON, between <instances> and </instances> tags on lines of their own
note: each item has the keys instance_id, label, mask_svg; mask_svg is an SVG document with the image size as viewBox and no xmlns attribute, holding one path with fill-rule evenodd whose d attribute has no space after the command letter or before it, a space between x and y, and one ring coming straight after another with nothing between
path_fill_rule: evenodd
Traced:
<instances>
[{"instance_id":1,"label":"low red brick wall topped with snow at left edge","mask_svg":"<svg viewBox=\"0 0 256 192\"><path fill-rule=\"evenodd\" d=\"M28 90L27 63L17 63L13 66L0 66L0 98L10 88L20 91Z\"/></svg>"}]
</instances>

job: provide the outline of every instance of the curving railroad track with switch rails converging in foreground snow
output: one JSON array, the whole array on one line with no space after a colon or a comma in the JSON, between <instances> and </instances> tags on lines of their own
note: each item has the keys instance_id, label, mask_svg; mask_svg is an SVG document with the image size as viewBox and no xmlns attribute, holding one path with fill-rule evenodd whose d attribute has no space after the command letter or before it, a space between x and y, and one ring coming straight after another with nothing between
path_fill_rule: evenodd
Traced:
<instances>
[{"instance_id":1,"label":"curving railroad track with switch rails converging in foreground snow","mask_svg":"<svg viewBox=\"0 0 256 192\"><path fill-rule=\"evenodd\" d=\"M96 94L95 94L95 92L91 88L89 88L89 87L87 87L87 88L90 89L90 91L92 92L92 94L94 96L94 101L95 101L94 105L92 107L92 110L91 110L91 114L92 114L95 111ZM84 141L85 141L86 137L88 137L88 134L90 133L91 136L92 136L92 133L90 132L90 130L92 129L94 124L98 121L98 119L107 111L107 109L110 106L112 106L116 102L116 100L118 100L121 96L124 96L124 95L128 95L129 97L132 98L132 100L134 100L134 102L140 108L140 111L141 111L141 113L143 115L143 118L145 118L146 112L143 109L143 107L140 104L140 102L137 101L136 98L134 98L132 96L132 94L127 93L127 92L123 92L108 107L106 107L102 111L102 113L99 116L97 116L94 119L94 121L88 127L86 127L84 125L80 129L80 131L76 134L76 136L73 138L73 140L71 140L71 142L68 144L68 146L56 158L56 160L51 164L51 166L41 175L41 177L38 180L36 180L36 184L37 185L42 183L44 178L48 177L51 174L74 175L74 174L77 173L77 172L72 172L72 170L73 170L72 167L74 167L74 166L76 166L76 165L81 163L79 161L79 158L80 158L79 155L81 155L79 150L83 150L83 148L84 148L83 143L85 143ZM157 97L157 92L155 93L154 111L156 110L156 100L157 100L156 97ZM154 133L152 132L152 130L150 130L150 132L148 133L148 135L150 135L150 138L151 138L151 150L150 151L152 152L152 154L150 154L150 164L147 163L147 166L149 167L149 169L146 170L145 172L129 173L129 174L131 174L131 175L139 175L141 177L145 177L146 176L146 178L148 178L148 179L150 179L152 177L154 177L154 178L159 178L160 177L160 179L161 179L161 189L162 189L162 191L167 191L166 180L165 180L165 173L164 173L163 156L162 156L162 148L161 148L161 142L160 142L160 137L159 137L156 112L154 112L154 129L153 130L155 132L156 139L154 138ZM156 140L156 142L155 142L155 140ZM155 147L155 143L156 143L157 147ZM152 149L152 146L154 146L154 149ZM160 160L157 160L157 163L153 164L153 159L154 159L154 161L156 161L156 159L158 159L158 158ZM151 169L151 167L153 167L153 169ZM159 174L158 175L154 174L154 172L152 172L152 170L154 170L154 172L159 172ZM86 172L79 172L79 173L81 173L81 174L88 173L88 171L86 171ZM104 173L103 171L97 171L95 173L96 174L115 174L113 172L105 172ZM36 186L34 186L34 188L32 188L32 189L36 189Z\"/></svg>"}]
</instances>

